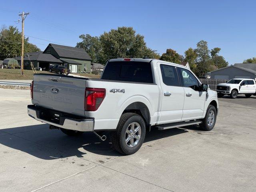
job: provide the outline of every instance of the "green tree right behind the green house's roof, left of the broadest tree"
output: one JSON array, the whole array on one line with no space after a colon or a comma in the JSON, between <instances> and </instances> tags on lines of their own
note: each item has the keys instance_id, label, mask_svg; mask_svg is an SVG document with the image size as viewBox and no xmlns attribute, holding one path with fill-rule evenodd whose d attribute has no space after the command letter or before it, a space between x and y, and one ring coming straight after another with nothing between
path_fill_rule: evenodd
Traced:
<instances>
[{"instance_id":1,"label":"green tree right behind the green house's roof, left of the broadest tree","mask_svg":"<svg viewBox=\"0 0 256 192\"><path fill-rule=\"evenodd\" d=\"M92 37L89 34L80 35L79 38L82 42L78 42L76 47L84 49L92 58L92 62L105 64L107 58L104 56L99 38L97 36Z\"/></svg>"}]
</instances>

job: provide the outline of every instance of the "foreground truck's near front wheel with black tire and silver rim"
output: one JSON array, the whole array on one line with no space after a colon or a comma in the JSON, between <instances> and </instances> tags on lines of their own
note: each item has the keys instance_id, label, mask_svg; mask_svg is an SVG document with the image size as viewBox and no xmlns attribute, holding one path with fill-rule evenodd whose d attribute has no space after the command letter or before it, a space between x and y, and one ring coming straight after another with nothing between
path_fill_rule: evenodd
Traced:
<instances>
[{"instance_id":1,"label":"foreground truck's near front wheel with black tire and silver rim","mask_svg":"<svg viewBox=\"0 0 256 192\"><path fill-rule=\"evenodd\" d=\"M214 128L216 123L217 110L213 105L209 105L202 119L202 123L199 124L200 128L204 131L210 131Z\"/></svg>"}]
</instances>

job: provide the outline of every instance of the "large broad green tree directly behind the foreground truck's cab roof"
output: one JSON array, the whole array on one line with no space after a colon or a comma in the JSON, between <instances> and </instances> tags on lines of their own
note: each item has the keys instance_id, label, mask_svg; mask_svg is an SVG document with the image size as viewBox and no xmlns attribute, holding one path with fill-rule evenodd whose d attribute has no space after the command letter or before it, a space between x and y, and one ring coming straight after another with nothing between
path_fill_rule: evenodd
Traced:
<instances>
[{"instance_id":1,"label":"large broad green tree directly behind the foreground truck's cab roof","mask_svg":"<svg viewBox=\"0 0 256 192\"><path fill-rule=\"evenodd\" d=\"M151 57L152 51L146 46L144 36L136 34L132 27L118 27L100 35L104 54L109 57Z\"/></svg>"}]
</instances>

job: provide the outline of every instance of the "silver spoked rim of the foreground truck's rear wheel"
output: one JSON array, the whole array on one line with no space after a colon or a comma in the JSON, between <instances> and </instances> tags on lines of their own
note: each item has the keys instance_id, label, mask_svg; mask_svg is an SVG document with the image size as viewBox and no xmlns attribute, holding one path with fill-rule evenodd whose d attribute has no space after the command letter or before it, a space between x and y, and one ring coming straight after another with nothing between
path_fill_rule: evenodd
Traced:
<instances>
[{"instance_id":1,"label":"silver spoked rim of the foreground truck's rear wheel","mask_svg":"<svg viewBox=\"0 0 256 192\"><path fill-rule=\"evenodd\" d=\"M138 144L141 137L140 124L132 122L128 125L125 132L125 143L128 147L134 147Z\"/></svg>"}]
</instances>

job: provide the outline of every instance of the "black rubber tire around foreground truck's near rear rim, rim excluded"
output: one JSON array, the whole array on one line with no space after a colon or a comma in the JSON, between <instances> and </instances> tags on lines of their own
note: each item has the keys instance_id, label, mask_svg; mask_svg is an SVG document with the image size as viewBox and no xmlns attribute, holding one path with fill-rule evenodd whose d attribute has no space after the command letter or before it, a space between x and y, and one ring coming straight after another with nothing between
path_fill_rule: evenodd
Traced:
<instances>
[{"instance_id":1,"label":"black rubber tire around foreground truck's near rear rim, rim excluded","mask_svg":"<svg viewBox=\"0 0 256 192\"><path fill-rule=\"evenodd\" d=\"M138 143L134 147L131 147L131 146L129 147L128 144L126 144L125 142L126 136L128 136L128 133L126 132L126 130L129 128L129 125L134 122L140 125L141 135L140 135L140 139L138 140ZM118 152L124 155L134 154L142 146L145 139L145 135L146 135L146 126L143 118L135 113L124 113L122 114L118 122L116 131L113 132L112 134L112 144L115 150L117 150Z\"/></svg>"}]
</instances>

